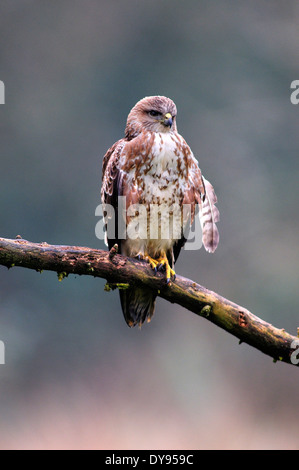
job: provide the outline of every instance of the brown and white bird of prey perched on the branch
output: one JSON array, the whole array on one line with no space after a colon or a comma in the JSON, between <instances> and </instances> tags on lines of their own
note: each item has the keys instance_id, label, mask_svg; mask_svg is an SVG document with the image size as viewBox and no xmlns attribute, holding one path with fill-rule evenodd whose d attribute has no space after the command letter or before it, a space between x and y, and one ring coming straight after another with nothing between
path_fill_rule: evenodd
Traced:
<instances>
[{"instance_id":1,"label":"brown and white bird of prey perched on the branch","mask_svg":"<svg viewBox=\"0 0 299 470\"><path fill-rule=\"evenodd\" d=\"M177 132L176 116L176 105L165 96L140 100L128 115L125 137L107 151L102 169L101 197L109 249L117 244L121 254L148 261L154 270L165 271L167 283L175 278L174 263L186 242L185 229L197 212L205 249L214 252L219 242L214 189L202 176L190 147ZM120 196L121 200L125 198L121 208ZM114 209L114 217L108 217L109 211L105 211L108 206ZM176 218L180 221L179 230L172 226L163 232L169 228L166 225L174 224L174 207L182 209ZM183 207L189 208L184 215ZM145 214L143 230L139 226L141 212ZM158 214L156 222L153 213ZM124 221L127 229L124 236L119 233L119 220ZM109 223L114 224L115 230L109 230ZM137 229L140 231L136 236ZM156 294L146 287L120 290L128 326L149 322L155 299Z\"/></svg>"}]
</instances>

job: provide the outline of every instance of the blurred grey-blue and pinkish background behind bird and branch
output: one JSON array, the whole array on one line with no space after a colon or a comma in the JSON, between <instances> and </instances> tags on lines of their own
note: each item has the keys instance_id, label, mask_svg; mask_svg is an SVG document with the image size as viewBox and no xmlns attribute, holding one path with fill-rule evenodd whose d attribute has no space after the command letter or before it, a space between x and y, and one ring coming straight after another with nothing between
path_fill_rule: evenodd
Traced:
<instances>
[{"instance_id":1,"label":"blurred grey-blue and pinkish background behind bird and branch","mask_svg":"<svg viewBox=\"0 0 299 470\"><path fill-rule=\"evenodd\" d=\"M104 248L101 164L147 95L215 187L214 255L177 272L296 334L299 4L2 0L0 236ZM298 449L298 369L158 300L129 329L104 280L0 266L1 449Z\"/></svg>"}]
</instances>

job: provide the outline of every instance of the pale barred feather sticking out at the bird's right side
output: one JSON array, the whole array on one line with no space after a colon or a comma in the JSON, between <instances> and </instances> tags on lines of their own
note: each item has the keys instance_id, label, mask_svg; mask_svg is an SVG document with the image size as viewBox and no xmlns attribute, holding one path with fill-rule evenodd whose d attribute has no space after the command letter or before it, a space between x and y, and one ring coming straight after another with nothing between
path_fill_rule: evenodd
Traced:
<instances>
[{"instance_id":1,"label":"pale barred feather sticking out at the bird's right side","mask_svg":"<svg viewBox=\"0 0 299 470\"><path fill-rule=\"evenodd\" d=\"M219 232L216 222L219 222L219 210L215 206L217 196L214 188L209 181L203 178L206 194L199 211L200 223L202 228L202 242L209 253L214 253L219 243Z\"/></svg>"}]
</instances>

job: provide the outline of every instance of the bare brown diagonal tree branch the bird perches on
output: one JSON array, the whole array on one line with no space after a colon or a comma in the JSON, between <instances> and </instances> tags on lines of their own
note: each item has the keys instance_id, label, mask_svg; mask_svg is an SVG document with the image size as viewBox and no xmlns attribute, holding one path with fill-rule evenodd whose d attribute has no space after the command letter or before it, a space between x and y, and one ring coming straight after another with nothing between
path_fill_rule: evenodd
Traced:
<instances>
[{"instance_id":1,"label":"bare brown diagonal tree branch the bird perches on","mask_svg":"<svg viewBox=\"0 0 299 470\"><path fill-rule=\"evenodd\" d=\"M56 271L59 280L69 274L104 278L108 286L145 285L158 296L206 318L275 361L299 365L299 339L261 320L245 308L181 276L169 285L162 273L153 274L144 261L77 246L31 243L17 237L0 238L0 265L36 271Z\"/></svg>"}]
</instances>

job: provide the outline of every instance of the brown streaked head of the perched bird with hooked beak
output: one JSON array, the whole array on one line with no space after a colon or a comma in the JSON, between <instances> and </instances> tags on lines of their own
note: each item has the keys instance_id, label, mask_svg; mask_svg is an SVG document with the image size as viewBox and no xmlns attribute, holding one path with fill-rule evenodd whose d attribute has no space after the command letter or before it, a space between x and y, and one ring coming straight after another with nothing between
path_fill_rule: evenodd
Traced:
<instances>
[{"instance_id":1,"label":"brown streaked head of the perched bird with hooked beak","mask_svg":"<svg viewBox=\"0 0 299 470\"><path fill-rule=\"evenodd\" d=\"M131 110L126 126L126 137L134 138L142 131L176 131L176 105L165 96L148 96L138 101Z\"/></svg>"}]
</instances>

